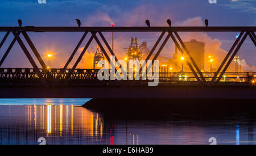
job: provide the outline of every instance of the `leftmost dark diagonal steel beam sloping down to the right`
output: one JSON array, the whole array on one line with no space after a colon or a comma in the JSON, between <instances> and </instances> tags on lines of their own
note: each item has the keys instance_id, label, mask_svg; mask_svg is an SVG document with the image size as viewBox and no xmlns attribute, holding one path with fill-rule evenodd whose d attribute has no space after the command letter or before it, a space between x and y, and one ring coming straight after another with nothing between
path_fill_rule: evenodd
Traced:
<instances>
[{"instance_id":1,"label":"leftmost dark diagonal steel beam sloping down to the right","mask_svg":"<svg viewBox=\"0 0 256 156\"><path fill-rule=\"evenodd\" d=\"M43 77L41 71L38 69L38 66L36 65L35 61L33 60L32 56L30 55L30 53L28 52L26 46L24 45L23 41L20 39L20 37L18 36L18 33L16 33L15 31L12 31L13 35L15 36L16 40L18 41L20 47L22 48L23 52L26 54L28 61L30 61L31 65L33 66L33 68L36 71L36 74L38 74L39 79L42 81L43 85L45 87L48 87L48 84L46 82L46 79Z\"/></svg>"}]
</instances>

